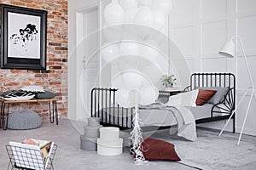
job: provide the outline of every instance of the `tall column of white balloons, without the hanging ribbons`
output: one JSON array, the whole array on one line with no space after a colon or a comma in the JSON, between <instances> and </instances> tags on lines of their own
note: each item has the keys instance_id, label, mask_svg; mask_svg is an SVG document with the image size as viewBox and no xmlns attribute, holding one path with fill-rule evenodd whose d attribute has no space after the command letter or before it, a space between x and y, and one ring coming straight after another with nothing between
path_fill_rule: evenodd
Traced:
<instances>
[{"instance_id":1,"label":"tall column of white balloons, without the hanging ribbons","mask_svg":"<svg viewBox=\"0 0 256 170\"><path fill-rule=\"evenodd\" d=\"M113 28L114 26L134 25L138 26L134 32L145 32L145 27L150 27L155 31L162 31L166 25L166 18L171 10L171 0L112 0L108 3L103 11L104 26ZM141 29L139 29L141 26ZM107 29L105 29L107 30ZM121 72L119 76L113 78L113 86L119 88L117 92L117 101L123 107L135 106L133 102L134 96L139 95L137 102L141 105L149 105L158 97L158 89L154 87L155 80L152 81L147 75L143 74L143 58L148 59L152 63L160 56L156 50L158 44L152 40L142 40L142 42L127 42L120 37L119 42L111 41L116 37L119 31L109 29L104 32L104 36L108 42L102 45L101 56L105 63L118 60L121 56L128 56L123 62L130 64L129 71ZM126 30L127 31L127 30ZM131 32L130 32L131 33ZM138 32L140 34L140 32ZM134 57L137 63L140 63L139 71L131 71L134 69L135 62L129 62ZM123 58L124 59L124 58ZM156 65L153 65L156 66ZM156 66L157 67L157 66ZM124 68L123 68L124 70ZM116 83L122 82L122 83ZM149 83L148 83L149 82ZM135 90L137 95L134 94Z\"/></svg>"}]
</instances>

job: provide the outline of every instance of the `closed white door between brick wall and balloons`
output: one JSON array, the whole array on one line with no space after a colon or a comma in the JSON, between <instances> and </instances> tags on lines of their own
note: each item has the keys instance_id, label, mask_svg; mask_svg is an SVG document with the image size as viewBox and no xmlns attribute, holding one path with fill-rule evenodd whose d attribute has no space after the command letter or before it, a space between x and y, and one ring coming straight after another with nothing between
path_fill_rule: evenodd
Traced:
<instances>
[{"instance_id":1,"label":"closed white door between brick wall and balloons","mask_svg":"<svg viewBox=\"0 0 256 170\"><path fill-rule=\"evenodd\" d=\"M98 86L96 77L100 71L100 10L96 4L76 14L76 119L86 122L90 117L90 90Z\"/></svg>"}]
</instances>

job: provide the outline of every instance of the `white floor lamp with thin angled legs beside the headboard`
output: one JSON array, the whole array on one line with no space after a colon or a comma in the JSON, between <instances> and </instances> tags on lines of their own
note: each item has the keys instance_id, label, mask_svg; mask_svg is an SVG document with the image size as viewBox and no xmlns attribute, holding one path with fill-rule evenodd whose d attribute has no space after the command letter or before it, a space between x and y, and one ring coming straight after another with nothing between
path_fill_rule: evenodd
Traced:
<instances>
[{"instance_id":1,"label":"white floor lamp with thin angled legs beside the headboard","mask_svg":"<svg viewBox=\"0 0 256 170\"><path fill-rule=\"evenodd\" d=\"M230 38L229 41L225 42L224 43L224 46L220 49L220 51L218 52L218 54L221 54L221 55L224 55L225 57L229 57L229 58L233 58L235 56L235 49L236 49L236 45L235 43L233 42L233 40L237 38L239 40L239 42L241 43L241 49L242 49L242 54L243 54L243 57L244 57L244 60L245 60L245 63L247 65L247 72L249 74L249 78L250 78L250 82L251 82L251 87L247 88L245 94L243 94L243 96L241 97L241 100L240 102L237 104L235 110L232 112L232 114L230 115L230 118L229 120L226 122L226 124L224 125L223 129L221 130L221 132L218 134L218 136L220 136L225 127L227 127L228 123L230 122L230 119L231 117L234 115L235 111L237 110L237 108L239 107L239 105L241 104L241 101L245 98L247 92L249 90L252 90L252 94L250 95L250 100L249 100L249 103L248 103L248 106L247 106L247 112L246 112L246 115L244 117L244 120L243 120L243 123L242 123L242 127L241 127L241 133L240 133L240 136L239 136L239 139L237 141L237 145L240 144L240 140L241 140L241 134L243 132L243 128L245 126L245 123L247 121L247 115L248 115L248 112L249 112L249 109L250 109L250 106L251 106L251 103L252 103L252 99L253 99L253 96L255 97L256 99L256 94L255 94L255 88L254 88L254 85L253 85L253 78L252 78L252 74L251 74L251 71L250 71L250 68L248 66L248 63L247 63L247 56L245 54L245 51L244 51L244 48L243 48L243 44L241 42L241 37L239 36L233 36ZM236 68L237 69L237 68Z\"/></svg>"}]
</instances>

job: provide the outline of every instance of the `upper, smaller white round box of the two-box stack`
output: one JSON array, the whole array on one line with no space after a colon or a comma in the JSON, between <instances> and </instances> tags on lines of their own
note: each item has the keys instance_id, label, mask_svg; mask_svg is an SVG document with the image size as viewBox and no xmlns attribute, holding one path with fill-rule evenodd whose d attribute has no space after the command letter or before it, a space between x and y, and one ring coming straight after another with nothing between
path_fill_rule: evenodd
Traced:
<instances>
[{"instance_id":1,"label":"upper, smaller white round box of the two-box stack","mask_svg":"<svg viewBox=\"0 0 256 170\"><path fill-rule=\"evenodd\" d=\"M101 127L100 137L103 141L116 141L119 139L119 127Z\"/></svg>"}]
</instances>

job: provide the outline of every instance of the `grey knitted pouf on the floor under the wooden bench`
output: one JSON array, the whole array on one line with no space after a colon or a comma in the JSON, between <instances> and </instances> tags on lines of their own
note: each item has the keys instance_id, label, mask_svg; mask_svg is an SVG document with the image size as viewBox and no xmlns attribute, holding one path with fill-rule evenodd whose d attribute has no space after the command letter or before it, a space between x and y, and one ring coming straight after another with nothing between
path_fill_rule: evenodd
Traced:
<instances>
[{"instance_id":1,"label":"grey knitted pouf on the floor under the wooden bench","mask_svg":"<svg viewBox=\"0 0 256 170\"><path fill-rule=\"evenodd\" d=\"M12 111L9 114L8 128L27 130L41 126L41 118L35 111Z\"/></svg>"}]
</instances>

